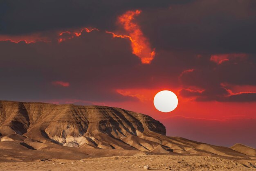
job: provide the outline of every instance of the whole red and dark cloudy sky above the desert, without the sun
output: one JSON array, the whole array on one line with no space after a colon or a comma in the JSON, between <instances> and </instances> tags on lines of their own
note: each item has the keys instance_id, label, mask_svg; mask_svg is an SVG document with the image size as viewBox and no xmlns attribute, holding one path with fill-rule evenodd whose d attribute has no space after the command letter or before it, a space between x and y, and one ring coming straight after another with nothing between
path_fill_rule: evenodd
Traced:
<instances>
[{"instance_id":1,"label":"whole red and dark cloudy sky above the desert, without the sun","mask_svg":"<svg viewBox=\"0 0 256 171\"><path fill-rule=\"evenodd\" d=\"M255 30L255 0L2 0L0 99L120 107L168 136L256 147Z\"/></svg>"}]
</instances>

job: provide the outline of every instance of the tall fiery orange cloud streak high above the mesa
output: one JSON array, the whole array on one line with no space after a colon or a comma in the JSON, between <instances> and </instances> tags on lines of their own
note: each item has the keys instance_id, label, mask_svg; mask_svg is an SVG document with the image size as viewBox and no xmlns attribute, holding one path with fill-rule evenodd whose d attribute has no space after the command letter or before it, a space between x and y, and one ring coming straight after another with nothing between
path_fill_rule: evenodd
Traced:
<instances>
[{"instance_id":1,"label":"tall fiery orange cloud streak high above the mesa","mask_svg":"<svg viewBox=\"0 0 256 171\"><path fill-rule=\"evenodd\" d=\"M127 11L123 15L119 16L118 23L121 24L124 29L128 32L128 35L116 35L115 33L108 32L113 37L120 37L129 39L132 46L132 53L138 56L142 64L150 64L155 58L155 49L150 48L148 39L142 33L139 25L133 20L135 16L138 16L141 11Z\"/></svg>"}]
</instances>

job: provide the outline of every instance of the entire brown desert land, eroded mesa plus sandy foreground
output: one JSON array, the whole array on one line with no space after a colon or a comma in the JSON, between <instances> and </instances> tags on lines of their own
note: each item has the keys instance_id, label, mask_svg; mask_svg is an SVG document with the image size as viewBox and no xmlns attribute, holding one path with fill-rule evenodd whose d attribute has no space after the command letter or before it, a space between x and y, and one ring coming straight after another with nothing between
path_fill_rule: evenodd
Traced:
<instances>
[{"instance_id":1,"label":"entire brown desert land, eroded mesa plus sandy foreground","mask_svg":"<svg viewBox=\"0 0 256 171\"><path fill-rule=\"evenodd\" d=\"M150 116L107 106L0 101L0 154L0 170L256 169L252 147L166 136Z\"/></svg>"}]
</instances>

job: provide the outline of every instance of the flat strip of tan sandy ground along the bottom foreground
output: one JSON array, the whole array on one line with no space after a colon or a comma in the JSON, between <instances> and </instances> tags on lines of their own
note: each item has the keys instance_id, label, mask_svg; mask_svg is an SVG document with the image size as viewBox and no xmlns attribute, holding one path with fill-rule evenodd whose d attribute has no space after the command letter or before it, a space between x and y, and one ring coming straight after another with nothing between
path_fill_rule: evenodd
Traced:
<instances>
[{"instance_id":1,"label":"flat strip of tan sandy ground along the bottom foreground","mask_svg":"<svg viewBox=\"0 0 256 171\"><path fill-rule=\"evenodd\" d=\"M254 161L256 162L256 160ZM240 162L218 157L202 156L114 156L101 158L87 158L83 160L38 160L36 162L3 162L0 170L44 170L44 171L68 171L68 170L173 170L173 171L208 171L230 170L248 171L256 170L248 168ZM145 168L144 168L145 167Z\"/></svg>"}]
</instances>

